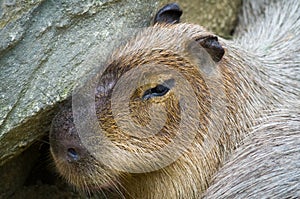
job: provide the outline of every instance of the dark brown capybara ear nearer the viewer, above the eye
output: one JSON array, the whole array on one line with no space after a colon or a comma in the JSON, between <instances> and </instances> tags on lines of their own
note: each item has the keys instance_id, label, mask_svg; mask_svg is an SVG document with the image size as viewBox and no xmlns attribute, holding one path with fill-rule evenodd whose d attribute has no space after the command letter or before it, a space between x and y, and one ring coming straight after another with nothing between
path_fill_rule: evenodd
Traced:
<instances>
[{"instance_id":1,"label":"dark brown capybara ear nearer the viewer, above the eye","mask_svg":"<svg viewBox=\"0 0 300 199\"><path fill-rule=\"evenodd\" d=\"M222 59L225 51L218 42L218 37L207 36L196 39L196 41L208 52L215 62L219 62Z\"/></svg>"}]
</instances>

